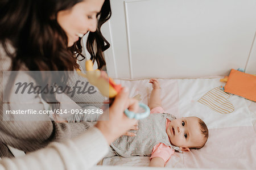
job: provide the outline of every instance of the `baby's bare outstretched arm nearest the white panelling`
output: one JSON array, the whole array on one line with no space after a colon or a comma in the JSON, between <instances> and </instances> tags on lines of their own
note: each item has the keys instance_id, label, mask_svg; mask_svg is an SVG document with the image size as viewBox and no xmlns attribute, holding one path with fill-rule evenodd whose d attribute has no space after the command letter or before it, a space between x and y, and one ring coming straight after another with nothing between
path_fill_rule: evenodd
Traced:
<instances>
[{"instance_id":1,"label":"baby's bare outstretched arm nearest the white panelling","mask_svg":"<svg viewBox=\"0 0 256 170\"><path fill-rule=\"evenodd\" d=\"M153 90L150 95L148 107L150 107L150 109L153 109L156 107L162 107L162 103L161 103L161 99L160 99L161 88L160 88L160 84L159 84L158 80L150 79L149 82L152 83Z\"/></svg>"}]
</instances>

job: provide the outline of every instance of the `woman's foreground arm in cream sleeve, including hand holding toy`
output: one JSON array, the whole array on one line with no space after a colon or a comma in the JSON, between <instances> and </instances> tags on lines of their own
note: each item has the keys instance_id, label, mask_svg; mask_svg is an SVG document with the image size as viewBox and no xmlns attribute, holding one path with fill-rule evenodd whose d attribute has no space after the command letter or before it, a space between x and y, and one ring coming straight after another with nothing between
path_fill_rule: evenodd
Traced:
<instances>
[{"instance_id":1,"label":"woman's foreground arm in cream sleeve, including hand holding toy","mask_svg":"<svg viewBox=\"0 0 256 170\"><path fill-rule=\"evenodd\" d=\"M98 121L97 128L90 128L79 137L63 143L51 143L42 150L16 159L2 159L0 169L88 169L107 152L109 144L129 130L137 120L123 114L126 108L138 111L136 100L128 98L127 90L119 92L109 108L102 114L108 120Z\"/></svg>"}]
</instances>

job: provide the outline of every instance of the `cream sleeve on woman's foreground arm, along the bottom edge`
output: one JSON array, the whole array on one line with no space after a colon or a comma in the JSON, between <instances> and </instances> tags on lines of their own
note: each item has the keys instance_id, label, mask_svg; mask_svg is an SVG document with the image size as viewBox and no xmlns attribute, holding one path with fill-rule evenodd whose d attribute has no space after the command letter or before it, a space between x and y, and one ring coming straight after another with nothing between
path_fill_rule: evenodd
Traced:
<instances>
[{"instance_id":1,"label":"cream sleeve on woman's foreground arm, along the bottom edge","mask_svg":"<svg viewBox=\"0 0 256 170\"><path fill-rule=\"evenodd\" d=\"M106 139L93 127L64 143L53 142L20 158L4 158L0 169L89 169L107 152Z\"/></svg>"}]
</instances>

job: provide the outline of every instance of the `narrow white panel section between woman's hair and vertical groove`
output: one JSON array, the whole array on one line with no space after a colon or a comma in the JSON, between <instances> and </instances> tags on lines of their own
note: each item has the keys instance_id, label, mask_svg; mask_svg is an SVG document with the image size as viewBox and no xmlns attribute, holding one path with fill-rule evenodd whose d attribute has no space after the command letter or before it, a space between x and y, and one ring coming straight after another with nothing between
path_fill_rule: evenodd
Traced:
<instances>
[{"instance_id":1,"label":"narrow white panel section between woman's hair and vertical groove","mask_svg":"<svg viewBox=\"0 0 256 170\"><path fill-rule=\"evenodd\" d=\"M110 0L112 16L110 21L102 25L102 33L111 47L105 52L108 74L113 78L130 77L125 8L123 1Z\"/></svg>"}]
</instances>

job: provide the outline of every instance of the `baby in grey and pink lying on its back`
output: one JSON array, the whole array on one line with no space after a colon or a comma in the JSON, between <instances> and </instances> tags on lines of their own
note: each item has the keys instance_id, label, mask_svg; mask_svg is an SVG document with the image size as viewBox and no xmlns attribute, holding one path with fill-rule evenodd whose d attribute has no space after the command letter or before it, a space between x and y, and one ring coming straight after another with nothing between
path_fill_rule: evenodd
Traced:
<instances>
[{"instance_id":1,"label":"baby in grey and pink lying on its back","mask_svg":"<svg viewBox=\"0 0 256 170\"><path fill-rule=\"evenodd\" d=\"M139 121L137 136L123 135L114 141L106 157L150 156L150 166L164 167L175 151L201 148L207 142L207 125L198 117L175 118L164 113L159 82L150 79L150 83L153 87L148 103L150 116Z\"/></svg>"}]
</instances>

